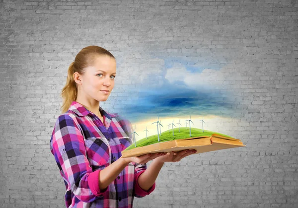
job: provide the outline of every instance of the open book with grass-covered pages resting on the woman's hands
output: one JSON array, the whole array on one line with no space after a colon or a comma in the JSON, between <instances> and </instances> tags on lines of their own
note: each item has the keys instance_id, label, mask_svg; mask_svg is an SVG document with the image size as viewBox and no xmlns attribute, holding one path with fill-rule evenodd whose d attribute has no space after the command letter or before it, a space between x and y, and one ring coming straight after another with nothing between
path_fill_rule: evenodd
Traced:
<instances>
[{"instance_id":1,"label":"open book with grass-covered pages resting on the woman's hands","mask_svg":"<svg viewBox=\"0 0 298 208\"><path fill-rule=\"evenodd\" d=\"M181 129L182 128L180 128L180 130ZM156 152L170 152L170 151L177 152L184 149L196 149L197 152L195 154L198 154L202 152L246 146L241 142L240 139L234 139L229 136L207 131L207 130L204 130L204 132L202 132L202 130L195 129L195 128L191 129L192 134L193 132L194 132L194 135L201 133L202 136L194 136L194 137L191 136L190 138L179 139L180 133L178 133L177 131L178 131L178 128L174 129L176 138L172 137L172 139L169 139L169 137L172 134L172 131L171 131L169 132L170 135L168 132L161 133L161 136L159 136L159 139L160 139L159 141L157 140L157 135L154 135L153 137L151 136L151 138L144 138L144 139L138 140L136 142L137 147L135 147L135 143L133 143L121 152L122 157L135 157L143 154L156 153ZM183 131L185 131L185 129L181 130L182 133ZM184 137L185 137L185 132L184 132ZM189 133L188 133L188 137L189 137ZM167 139L164 139L164 138L167 138Z\"/></svg>"}]
</instances>

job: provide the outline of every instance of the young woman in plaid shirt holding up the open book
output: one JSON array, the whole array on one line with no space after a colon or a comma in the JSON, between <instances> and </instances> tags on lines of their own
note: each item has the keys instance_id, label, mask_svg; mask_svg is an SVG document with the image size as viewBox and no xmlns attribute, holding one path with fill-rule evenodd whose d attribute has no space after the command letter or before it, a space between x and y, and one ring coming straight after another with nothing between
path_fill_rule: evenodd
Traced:
<instances>
[{"instance_id":1,"label":"young woman in plaid shirt holding up the open book","mask_svg":"<svg viewBox=\"0 0 298 208\"><path fill-rule=\"evenodd\" d=\"M50 140L68 208L132 208L134 197L142 198L155 189L164 162L194 153L121 157L121 151L132 144L132 125L99 106L112 92L115 75L115 57L98 46L83 48L68 69L63 114Z\"/></svg>"}]
</instances>

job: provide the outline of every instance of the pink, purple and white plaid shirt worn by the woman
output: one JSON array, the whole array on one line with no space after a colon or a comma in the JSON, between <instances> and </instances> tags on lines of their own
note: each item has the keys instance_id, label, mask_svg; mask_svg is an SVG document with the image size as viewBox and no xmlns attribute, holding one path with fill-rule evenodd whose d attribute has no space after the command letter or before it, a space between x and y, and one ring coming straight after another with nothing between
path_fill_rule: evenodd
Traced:
<instances>
[{"instance_id":1,"label":"pink, purple and white plaid shirt worn by the woman","mask_svg":"<svg viewBox=\"0 0 298 208\"><path fill-rule=\"evenodd\" d=\"M132 125L117 114L99 107L104 124L80 103L73 101L69 110L56 121L50 149L63 177L67 208L132 208L134 197L148 190L138 184L146 164L129 163L104 190L99 189L99 172L121 157L132 144Z\"/></svg>"}]
</instances>

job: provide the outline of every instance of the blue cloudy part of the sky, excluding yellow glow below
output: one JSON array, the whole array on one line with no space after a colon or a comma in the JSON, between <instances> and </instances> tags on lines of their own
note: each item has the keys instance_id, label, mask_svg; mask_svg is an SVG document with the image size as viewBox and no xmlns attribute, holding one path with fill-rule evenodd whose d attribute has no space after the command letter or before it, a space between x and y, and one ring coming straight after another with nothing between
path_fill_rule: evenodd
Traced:
<instances>
[{"instance_id":1,"label":"blue cloudy part of the sky, excluding yellow glow below","mask_svg":"<svg viewBox=\"0 0 298 208\"><path fill-rule=\"evenodd\" d=\"M208 67L208 66L204 66ZM121 113L131 122L152 117L189 117L217 115L229 117L233 95L215 89L217 69L196 67L194 63L164 60L161 70L142 76L139 94ZM215 78L211 78L213 75Z\"/></svg>"}]
</instances>

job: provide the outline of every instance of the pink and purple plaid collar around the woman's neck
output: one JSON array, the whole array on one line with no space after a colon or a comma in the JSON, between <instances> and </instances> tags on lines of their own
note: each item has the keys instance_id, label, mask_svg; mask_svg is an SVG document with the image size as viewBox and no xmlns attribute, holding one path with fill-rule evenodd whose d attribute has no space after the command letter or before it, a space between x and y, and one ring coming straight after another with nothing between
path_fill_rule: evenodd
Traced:
<instances>
[{"instance_id":1,"label":"pink and purple plaid collar around the woman's neck","mask_svg":"<svg viewBox=\"0 0 298 208\"><path fill-rule=\"evenodd\" d=\"M76 102L76 101L73 101L71 106L69 107L69 111L72 111L74 112L76 115L78 116L86 116L86 115L89 115L89 116L96 116L94 113L92 113L91 111L89 111L88 109L86 109L82 104ZM108 112L106 112L105 110L103 110L100 106L99 106L99 112L100 114L107 118L109 121L112 120L112 118L114 117L117 117L117 113L115 114L110 114Z\"/></svg>"}]
</instances>

